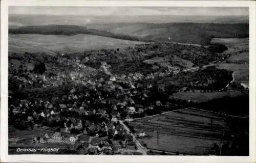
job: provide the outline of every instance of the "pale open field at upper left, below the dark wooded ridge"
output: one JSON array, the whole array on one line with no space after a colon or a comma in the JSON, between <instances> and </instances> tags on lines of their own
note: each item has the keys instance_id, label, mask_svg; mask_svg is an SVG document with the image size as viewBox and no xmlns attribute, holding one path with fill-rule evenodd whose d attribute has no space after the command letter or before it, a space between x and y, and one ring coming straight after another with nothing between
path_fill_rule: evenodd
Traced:
<instances>
[{"instance_id":1,"label":"pale open field at upper left, below the dark wooded ridge","mask_svg":"<svg viewBox=\"0 0 256 163\"><path fill-rule=\"evenodd\" d=\"M74 53L86 49L109 49L134 46L142 42L120 40L95 35L9 35L9 52Z\"/></svg>"}]
</instances>

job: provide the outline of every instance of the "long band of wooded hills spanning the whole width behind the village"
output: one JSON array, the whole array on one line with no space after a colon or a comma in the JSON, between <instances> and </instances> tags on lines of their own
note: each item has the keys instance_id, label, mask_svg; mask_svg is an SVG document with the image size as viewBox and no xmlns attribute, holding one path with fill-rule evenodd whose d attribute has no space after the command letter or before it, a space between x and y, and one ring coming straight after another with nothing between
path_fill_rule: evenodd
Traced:
<instances>
[{"instance_id":1,"label":"long band of wooded hills spanning the whole width behind the village","mask_svg":"<svg viewBox=\"0 0 256 163\"><path fill-rule=\"evenodd\" d=\"M39 25L9 29L10 34L76 35L90 34L132 41L170 41L209 44L211 38L244 38L249 24L220 23L105 23L79 25Z\"/></svg>"}]
</instances>

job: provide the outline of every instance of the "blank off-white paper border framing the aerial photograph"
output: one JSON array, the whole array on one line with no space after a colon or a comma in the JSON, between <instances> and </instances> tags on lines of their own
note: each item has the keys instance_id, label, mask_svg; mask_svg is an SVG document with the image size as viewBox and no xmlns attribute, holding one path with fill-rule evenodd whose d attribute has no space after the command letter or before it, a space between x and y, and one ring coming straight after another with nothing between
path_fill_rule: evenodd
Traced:
<instances>
[{"instance_id":1,"label":"blank off-white paper border framing the aerial photograph","mask_svg":"<svg viewBox=\"0 0 256 163\"><path fill-rule=\"evenodd\" d=\"M8 155L8 6L250 7L250 156ZM1 162L255 162L255 9L254 1L1 1Z\"/></svg>"}]
</instances>

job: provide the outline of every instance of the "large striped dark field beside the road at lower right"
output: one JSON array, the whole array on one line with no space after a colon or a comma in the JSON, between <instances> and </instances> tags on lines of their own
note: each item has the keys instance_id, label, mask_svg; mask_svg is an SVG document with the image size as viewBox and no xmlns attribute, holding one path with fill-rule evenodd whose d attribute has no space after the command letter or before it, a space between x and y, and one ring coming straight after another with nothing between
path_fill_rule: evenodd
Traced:
<instances>
[{"instance_id":1,"label":"large striped dark field beside the road at lower right","mask_svg":"<svg viewBox=\"0 0 256 163\"><path fill-rule=\"evenodd\" d=\"M220 147L226 119L214 113L184 109L136 119L131 125L148 133L148 138L140 139L148 149L204 155L212 143ZM155 131L159 132L159 143Z\"/></svg>"}]
</instances>

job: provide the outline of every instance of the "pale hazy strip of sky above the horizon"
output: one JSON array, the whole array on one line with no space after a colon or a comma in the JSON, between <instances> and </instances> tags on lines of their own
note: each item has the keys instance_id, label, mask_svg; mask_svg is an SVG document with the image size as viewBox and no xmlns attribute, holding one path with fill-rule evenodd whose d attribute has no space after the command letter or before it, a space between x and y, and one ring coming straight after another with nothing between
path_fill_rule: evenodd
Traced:
<instances>
[{"instance_id":1,"label":"pale hazy strip of sky above the horizon","mask_svg":"<svg viewBox=\"0 0 256 163\"><path fill-rule=\"evenodd\" d=\"M9 7L9 14L46 15L249 15L246 7Z\"/></svg>"}]
</instances>

